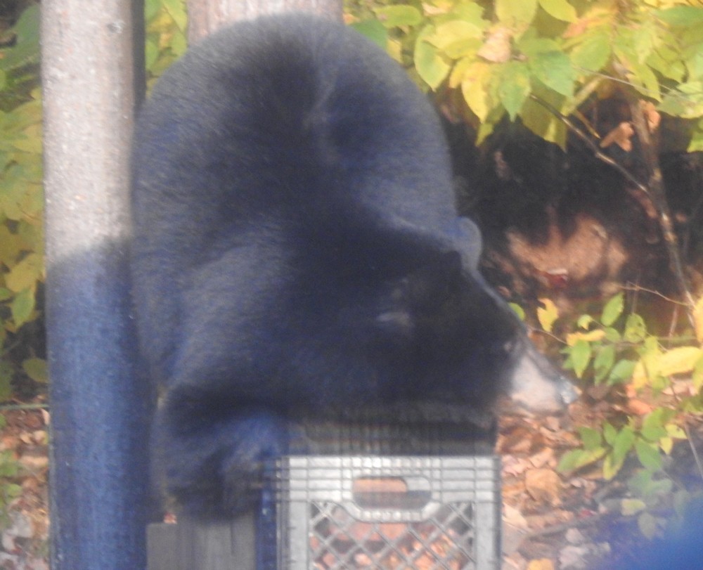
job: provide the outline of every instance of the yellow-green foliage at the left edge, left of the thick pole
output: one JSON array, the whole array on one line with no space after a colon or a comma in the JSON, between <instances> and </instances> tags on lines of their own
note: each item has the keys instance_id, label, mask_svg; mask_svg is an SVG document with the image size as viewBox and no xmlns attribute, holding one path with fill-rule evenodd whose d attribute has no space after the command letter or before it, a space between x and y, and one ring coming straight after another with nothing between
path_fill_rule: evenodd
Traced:
<instances>
[{"instance_id":1,"label":"yellow-green foliage at the left edge, left of the thick pole","mask_svg":"<svg viewBox=\"0 0 703 570\"><path fill-rule=\"evenodd\" d=\"M22 336L39 316L44 280L44 195L38 89L39 6L25 10L15 41L0 50L0 401L17 377L46 380L37 339Z\"/></svg>"}]
</instances>

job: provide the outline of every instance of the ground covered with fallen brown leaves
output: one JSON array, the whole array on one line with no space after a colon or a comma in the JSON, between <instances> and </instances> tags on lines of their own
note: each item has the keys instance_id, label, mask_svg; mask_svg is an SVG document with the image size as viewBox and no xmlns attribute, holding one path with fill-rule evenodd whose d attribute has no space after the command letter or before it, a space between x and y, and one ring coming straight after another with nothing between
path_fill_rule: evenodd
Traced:
<instances>
[{"instance_id":1,"label":"ground covered with fallen brown leaves","mask_svg":"<svg viewBox=\"0 0 703 570\"><path fill-rule=\"evenodd\" d=\"M503 460L503 570L608 570L603 560L614 553L636 551L646 542L636 516L622 514L628 498L625 484L636 460L611 481L600 469L565 476L557 472L560 456L578 446L574 425L595 425L598 406L572 404L562 417L527 418L505 413L497 451ZM640 402L638 406L643 406ZM0 569L48 570L49 507L47 498L47 428L45 410L8 410L0 434L0 453L20 465L15 477L0 463L0 493L8 481L22 493L0 518ZM694 443L703 446L703 421L689 424ZM701 483L688 442L671 454L678 472Z\"/></svg>"}]
</instances>

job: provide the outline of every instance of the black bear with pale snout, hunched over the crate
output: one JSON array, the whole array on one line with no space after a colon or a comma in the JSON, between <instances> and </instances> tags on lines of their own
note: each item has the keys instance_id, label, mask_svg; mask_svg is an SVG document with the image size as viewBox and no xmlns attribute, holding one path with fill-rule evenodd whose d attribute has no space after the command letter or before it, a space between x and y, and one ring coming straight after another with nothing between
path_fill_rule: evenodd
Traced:
<instances>
[{"instance_id":1,"label":"black bear with pale snout, hunched over the crate","mask_svg":"<svg viewBox=\"0 0 703 570\"><path fill-rule=\"evenodd\" d=\"M279 15L205 39L155 86L133 152L155 457L184 510L250 507L300 415L572 398L477 271L431 105L344 25Z\"/></svg>"}]
</instances>

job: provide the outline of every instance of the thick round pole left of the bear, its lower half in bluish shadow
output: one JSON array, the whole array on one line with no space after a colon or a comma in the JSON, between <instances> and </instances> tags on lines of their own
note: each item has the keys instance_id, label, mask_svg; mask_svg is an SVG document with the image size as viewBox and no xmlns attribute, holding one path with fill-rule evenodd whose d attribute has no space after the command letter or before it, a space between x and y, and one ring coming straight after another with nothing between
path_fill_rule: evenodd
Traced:
<instances>
[{"instance_id":1,"label":"thick round pole left of the bear, its lower half in bluish shadow","mask_svg":"<svg viewBox=\"0 0 703 570\"><path fill-rule=\"evenodd\" d=\"M127 267L142 13L130 0L41 3L53 570L146 566L151 394Z\"/></svg>"}]
</instances>

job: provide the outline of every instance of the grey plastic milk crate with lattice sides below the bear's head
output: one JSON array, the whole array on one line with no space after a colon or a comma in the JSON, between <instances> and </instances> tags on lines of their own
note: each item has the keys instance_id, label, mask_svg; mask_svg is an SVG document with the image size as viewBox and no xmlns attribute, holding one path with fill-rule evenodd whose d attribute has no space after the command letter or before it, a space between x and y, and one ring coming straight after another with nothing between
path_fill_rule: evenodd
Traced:
<instances>
[{"instance_id":1,"label":"grey plastic milk crate with lattice sides below the bear's head","mask_svg":"<svg viewBox=\"0 0 703 570\"><path fill-rule=\"evenodd\" d=\"M295 455L271 483L279 570L500 568L494 456Z\"/></svg>"}]
</instances>

